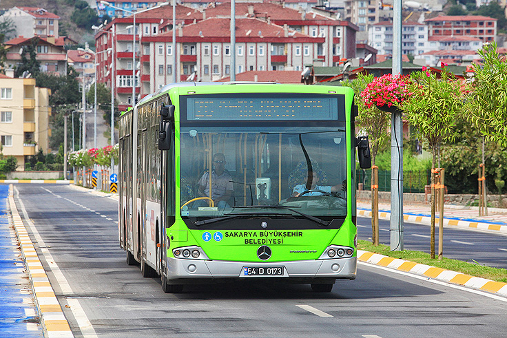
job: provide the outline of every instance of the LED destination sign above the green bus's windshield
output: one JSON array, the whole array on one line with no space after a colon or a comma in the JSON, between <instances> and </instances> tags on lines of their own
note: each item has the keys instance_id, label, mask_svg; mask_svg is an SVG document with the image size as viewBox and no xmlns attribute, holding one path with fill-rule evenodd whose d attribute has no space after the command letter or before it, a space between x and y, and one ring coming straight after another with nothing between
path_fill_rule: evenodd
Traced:
<instances>
[{"instance_id":1,"label":"LED destination sign above the green bus's windshield","mask_svg":"<svg viewBox=\"0 0 507 338\"><path fill-rule=\"evenodd\" d=\"M331 95L187 97L186 103L187 120L338 120L338 96Z\"/></svg>"}]
</instances>

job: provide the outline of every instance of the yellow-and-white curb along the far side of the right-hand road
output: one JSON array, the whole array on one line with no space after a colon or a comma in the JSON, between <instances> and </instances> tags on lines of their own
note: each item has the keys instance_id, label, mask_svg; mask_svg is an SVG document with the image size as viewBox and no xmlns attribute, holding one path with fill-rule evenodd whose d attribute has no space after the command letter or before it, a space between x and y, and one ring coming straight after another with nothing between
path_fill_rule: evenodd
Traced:
<instances>
[{"instance_id":1,"label":"yellow-and-white curb along the far side of the right-hand road","mask_svg":"<svg viewBox=\"0 0 507 338\"><path fill-rule=\"evenodd\" d=\"M371 210L359 210L358 216L369 217L371 218ZM378 217L382 220L389 220L391 218L391 213L387 211L379 211ZM407 213L403 214L403 220L406 222L418 223L418 224L431 224L431 216L426 215L410 215ZM438 225L439 218L435 216L435 224ZM444 216L444 226L460 228L460 229L470 229L470 230L485 230L491 231L494 233L506 233L507 234L507 225L504 224L492 224L486 222L473 222L468 220L453 220L449 218L445 218Z\"/></svg>"}]
</instances>

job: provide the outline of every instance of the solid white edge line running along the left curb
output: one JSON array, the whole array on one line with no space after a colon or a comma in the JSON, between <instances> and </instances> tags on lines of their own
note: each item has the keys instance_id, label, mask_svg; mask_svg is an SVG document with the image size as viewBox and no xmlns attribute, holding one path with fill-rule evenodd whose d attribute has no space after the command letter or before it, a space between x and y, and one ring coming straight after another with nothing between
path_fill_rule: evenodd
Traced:
<instances>
[{"instance_id":1,"label":"solid white edge line running along the left curb","mask_svg":"<svg viewBox=\"0 0 507 338\"><path fill-rule=\"evenodd\" d=\"M53 256L50 254L49 250L47 249L41 235L39 234L39 231L37 231L37 228L35 227L35 224L28 218L28 213L25 209L25 204L23 204L23 201L21 198L19 198L19 190L14 186L14 190L16 191L16 198L19 202L19 206L21 207L21 212L23 213L23 216L25 217L25 222L28 224L28 227L30 228L30 231L32 231L35 240L37 241L37 244L41 246L41 252L43 253L43 256L45 258L45 261L48 263L48 266L50 267L50 270L52 271L54 277L56 278L56 283L58 284L61 293L66 295L73 295L74 291L72 291L72 288L70 288L69 283L67 282L67 279L65 279L65 276L63 276L63 273L61 272L59 266L54 262ZM70 305L70 300L68 299L68 304ZM86 317L85 311L81 307L81 304L79 304L79 301L77 299L74 299L76 302L72 302L72 306L70 307L70 310L72 311L72 315L74 315L74 318L76 318L76 321L79 325L79 330L81 330L81 333L83 334L83 337L85 338L96 338L97 335L95 333L95 330L90 323L90 320ZM62 306L63 308L63 306Z\"/></svg>"}]
</instances>

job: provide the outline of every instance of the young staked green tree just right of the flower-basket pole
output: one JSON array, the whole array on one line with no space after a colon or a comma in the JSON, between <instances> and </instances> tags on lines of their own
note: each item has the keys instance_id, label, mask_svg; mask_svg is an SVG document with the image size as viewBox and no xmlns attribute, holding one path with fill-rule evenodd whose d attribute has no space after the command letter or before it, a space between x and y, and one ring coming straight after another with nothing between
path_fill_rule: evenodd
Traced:
<instances>
[{"instance_id":1,"label":"young staked green tree just right of the flower-basket pole","mask_svg":"<svg viewBox=\"0 0 507 338\"><path fill-rule=\"evenodd\" d=\"M413 93L401 108L413 127L415 136L424 140L432 156L431 167L437 162L437 149L444 140L453 140L456 134L456 116L462 112L459 81L444 68L441 78L423 68L422 72L411 74L412 83L408 90ZM431 175L432 190L435 173ZM435 258L435 199L431 199L431 258Z\"/></svg>"}]
</instances>

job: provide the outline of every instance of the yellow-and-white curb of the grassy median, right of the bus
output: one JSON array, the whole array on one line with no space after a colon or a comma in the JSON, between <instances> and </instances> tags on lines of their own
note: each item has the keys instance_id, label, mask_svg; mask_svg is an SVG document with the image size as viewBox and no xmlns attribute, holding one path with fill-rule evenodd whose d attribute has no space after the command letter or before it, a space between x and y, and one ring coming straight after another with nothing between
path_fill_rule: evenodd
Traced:
<instances>
[{"instance_id":1,"label":"yellow-and-white curb of the grassy median, right of the bus","mask_svg":"<svg viewBox=\"0 0 507 338\"><path fill-rule=\"evenodd\" d=\"M358 250L358 260L507 297L507 283L495 282L490 279L465 275L464 273L444 270L443 268L436 268L435 266L426 264L418 264L408 260L400 260L399 258L388 257L369 251Z\"/></svg>"}]
</instances>

